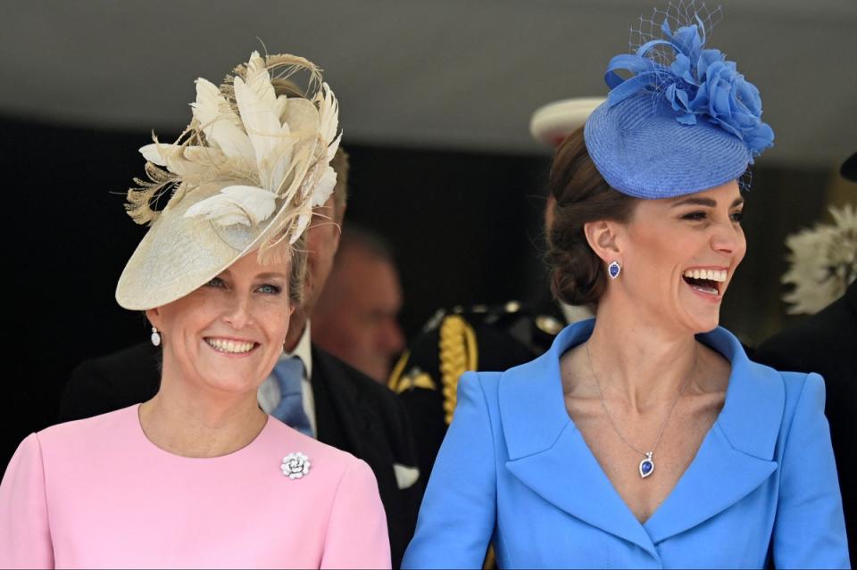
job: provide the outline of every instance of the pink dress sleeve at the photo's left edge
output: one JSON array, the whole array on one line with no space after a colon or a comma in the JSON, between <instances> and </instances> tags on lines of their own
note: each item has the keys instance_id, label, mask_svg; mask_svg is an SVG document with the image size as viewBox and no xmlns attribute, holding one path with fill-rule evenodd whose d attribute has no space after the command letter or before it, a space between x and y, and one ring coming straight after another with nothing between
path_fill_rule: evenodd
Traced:
<instances>
[{"instance_id":1,"label":"pink dress sleeve at the photo's left edge","mask_svg":"<svg viewBox=\"0 0 857 570\"><path fill-rule=\"evenodd\" d=\"M0 483L0 567L54 567L45 472L36 434L29 434L18 446Z\"/></svg>"}]
</instances>

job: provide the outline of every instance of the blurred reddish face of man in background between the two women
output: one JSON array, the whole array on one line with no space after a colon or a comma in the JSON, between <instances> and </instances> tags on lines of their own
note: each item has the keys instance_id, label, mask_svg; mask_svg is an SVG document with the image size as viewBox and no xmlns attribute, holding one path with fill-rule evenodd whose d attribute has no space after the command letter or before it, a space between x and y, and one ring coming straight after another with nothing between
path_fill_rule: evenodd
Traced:
<instances>
[{"instance_id":1,"label":"blurred reddish face of man in background between the two women","mask_svg":"<svg viewBox=\"0 0 857 570\"><path fill-rule=\"evenodd\" d=\"M344 246L312 312L312 341L386 384L395 357L404 350L396 321L401 308L402 288L392 261L360 244Z\"/></svg>"}]
</instances>

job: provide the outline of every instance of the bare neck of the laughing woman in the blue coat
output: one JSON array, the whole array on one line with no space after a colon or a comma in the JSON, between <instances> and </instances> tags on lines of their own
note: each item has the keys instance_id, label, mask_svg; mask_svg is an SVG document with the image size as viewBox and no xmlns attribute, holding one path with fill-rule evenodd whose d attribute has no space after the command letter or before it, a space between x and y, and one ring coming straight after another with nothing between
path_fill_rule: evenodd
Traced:
<instances>
[{"instance_id":1,"label":"bare neck of the laughing woman in the blue coat","mask_svg":"<svg viewBox=\"0 0 857 570\"><path fill-rule=\"evenodd\" d=\"M693 334L638 318L633 310L612 310L609 303L599 307L587 343L590 372L604 397L621 398L640 412L672 401L703 366Z\"/></svg>"}]
</instances>

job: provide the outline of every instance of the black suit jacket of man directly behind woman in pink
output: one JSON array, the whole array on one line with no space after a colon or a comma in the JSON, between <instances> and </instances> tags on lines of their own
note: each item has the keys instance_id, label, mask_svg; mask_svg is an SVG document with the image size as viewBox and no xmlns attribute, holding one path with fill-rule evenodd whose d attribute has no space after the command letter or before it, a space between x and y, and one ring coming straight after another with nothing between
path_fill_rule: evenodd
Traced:
<instances>
[{"instance_id":1,"label":"black suit jacket of man directly behind woman in pink","mask_svg":"<svg viewBox=\"0 0 857 570\"><path fill-rule=\"evenodd\" d=\"M66 385L60 420L149 400L160 384L160 358L160 349L144 343L81 363ZM413 535L422 485L399 490L395 480L395 463L417 465L402 403L385 386L314 345L311 383L319 441L361 458L375 473L397 567Z\"/></svg>"}]
</instances>

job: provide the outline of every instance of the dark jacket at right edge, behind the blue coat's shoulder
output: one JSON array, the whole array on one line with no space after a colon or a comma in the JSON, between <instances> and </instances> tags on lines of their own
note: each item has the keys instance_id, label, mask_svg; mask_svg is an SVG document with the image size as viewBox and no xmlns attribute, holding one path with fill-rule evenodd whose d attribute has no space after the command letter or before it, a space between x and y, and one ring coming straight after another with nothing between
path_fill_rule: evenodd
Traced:
<instances>
[{"instance_id":1,"label":"dark jacket at right edge, behind the blue coat's shoulder","mask_svg":"<svg viewBox=\"0 0 857 570\"><path fill-rule=\"evenodd\" d=\"M839 472L852 566L857 564L857 282L845 295L753 352L753 360L778 370L818 372L824 377L824 413ZM811 466L807 466L811 468Z\"/></svg>"}]
</instances>

